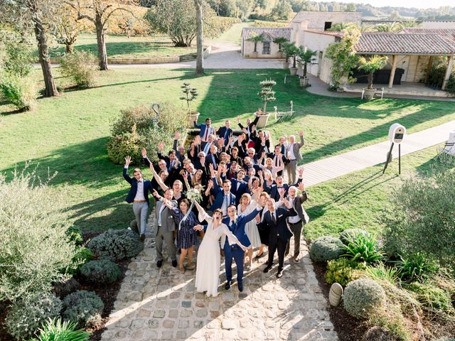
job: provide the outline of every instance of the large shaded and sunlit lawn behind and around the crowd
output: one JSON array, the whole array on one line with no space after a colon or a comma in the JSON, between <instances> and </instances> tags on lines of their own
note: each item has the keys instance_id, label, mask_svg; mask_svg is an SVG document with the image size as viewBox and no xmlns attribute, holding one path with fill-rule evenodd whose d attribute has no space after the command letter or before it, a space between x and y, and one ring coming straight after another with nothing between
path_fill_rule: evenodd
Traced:
<instances>
[{"instance_id":1,"label":"large shaded and sunlit lawn behind and around the crowd","mask_svg":"<svg viewBox=\"0 0 455 341\"><path fill-rule=\"evenodd\" d=\"M58 85L65 87L55 72ZM35 73L41 79L41 70ZM13 114L14 108L0 99L0 171L10 173L28 160L41 175L48 168L51 173L58 171L52 184L67 191L68 210L78 226L118 228L126 226L132 212L123 202L129 186L122 179L122 166L106 156L112 121L122 108L181 102L183 80L198 88L200 96L193 107L202 113L201 119L212 117L215 126L237 115L245 121L261 107L259 81L277 80L277 102L269 109L277 105L284 110L293 100L296 115L280 124L272 120L267 129L273 136L303 129L304 162L383 141L395 121L412 133L455 119L453 102L320 97L301 89L297 79L284 85L285 74L285 70L207 70L204 77L195 77L193 70L124 68L102 73L98 86L90 90L39 99L32 113ZM318 200L317 205L324 202Z\"/></svg>"}]
</instances>

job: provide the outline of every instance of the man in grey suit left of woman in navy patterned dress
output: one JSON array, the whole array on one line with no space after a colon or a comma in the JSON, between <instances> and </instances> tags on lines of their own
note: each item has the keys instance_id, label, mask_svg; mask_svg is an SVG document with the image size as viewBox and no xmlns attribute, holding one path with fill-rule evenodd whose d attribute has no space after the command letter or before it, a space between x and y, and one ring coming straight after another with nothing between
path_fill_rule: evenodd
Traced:
<instances>
[{"instance_id":1,"label":"man in grey suit left of woman in navy patterned dress","mask_svg":"<svg viewBox=\"0 0 455 341\"><path fill-rule=\"evenodd\" d=\"M164 197L161 197L156 190L154 190L156 197L155 205L155 242L156 242L156 266L161 268L163 265L163 240L166 242L168 254L172 259L172 266L177 266L176 247L173 244L173 232L176 230L176 222L171 215L171 210L164 205L164 200L170 202L171 205L177 207L176 200L172 200L173 190L168 188L164 192Z\"/></svg>"}]
</instances>

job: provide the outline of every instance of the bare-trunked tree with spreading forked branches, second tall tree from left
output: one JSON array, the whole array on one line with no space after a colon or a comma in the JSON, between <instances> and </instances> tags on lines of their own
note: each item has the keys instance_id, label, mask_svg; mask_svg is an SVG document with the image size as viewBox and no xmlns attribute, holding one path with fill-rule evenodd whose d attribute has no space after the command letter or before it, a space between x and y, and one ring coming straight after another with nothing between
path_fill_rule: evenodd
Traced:
<instances>
[{"instance_id":1,"label":"bare-trunked tree with spreading forked branches, second tall tree from left","mask_svg":"<svg viewBox=\"0 0 455 341\"><path fill-rule=\"evenodd\" d=\"M134 16L134 13L115 4L114 0L66 0L67 4L77 11L77 20L87 19L95 25L97 33L98 60L100 70L107 70L107 51L105 29L112 13L116 11L125 11ZM137 4L135 0L119 1L122 4Z\"/></svg>"}]
</instances>

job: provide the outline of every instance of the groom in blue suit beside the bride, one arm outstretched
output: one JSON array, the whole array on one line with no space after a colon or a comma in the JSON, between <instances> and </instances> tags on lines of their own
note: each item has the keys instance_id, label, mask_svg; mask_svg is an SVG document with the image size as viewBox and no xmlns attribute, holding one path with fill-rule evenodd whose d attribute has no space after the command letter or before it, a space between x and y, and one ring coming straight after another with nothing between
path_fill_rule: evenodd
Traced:
<instances>
[{"instance_id":1,"label":"groom in blue suit beside the bride, one arm outstretched","mask_svg":"<svg viewBox=\"0 0 455 341\"><path fill-rule=\"evenodd\" d=\"M249 215L240 215L240 217L237 217L237 207L235 205L230 205L228 207L228 217L223 218L222 222L228 226L232 234L239 239L239 242L242 243L243 246L250 247L251 242L245 233L245 225L247 222L255 219L261 210L262 207L259 206ZM234 259L235 264L237 264L237 286L239 291L243 291L243 258L245 256L245 252L240 249L237 244L230 245L228 239L225 237L225 234L221 237L221 245L223 245L223 249L225 250L225 269L227 280L225 289L228 290L232 282L232 259Z\"/></svg>"}]
</instances>

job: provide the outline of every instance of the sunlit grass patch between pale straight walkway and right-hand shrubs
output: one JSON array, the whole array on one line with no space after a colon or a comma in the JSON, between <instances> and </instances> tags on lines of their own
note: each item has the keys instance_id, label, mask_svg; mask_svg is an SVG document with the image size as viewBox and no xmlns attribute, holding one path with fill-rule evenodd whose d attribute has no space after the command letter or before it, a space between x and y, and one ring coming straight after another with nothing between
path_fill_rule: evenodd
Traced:
<instances>
[{"instance_id":1,"label":"sunlit grass patch between pale straight walkway and right-hand shrubs","mask_svg":"<svg viewBox=\"0 0 455 341\"><path fill-rule=\"evenodd\" d=\"M433 146L404 156L401 175L394 160L384 175L383 165L378 165L308 188L310 200L304 207L311 221L305 227L305 237L338 237L351 228L380 232L380 217L390 193L400 188L402 180L429 171L438 162L433 159L436 155L437 147Z\"/></svg>"}]
</instances>

